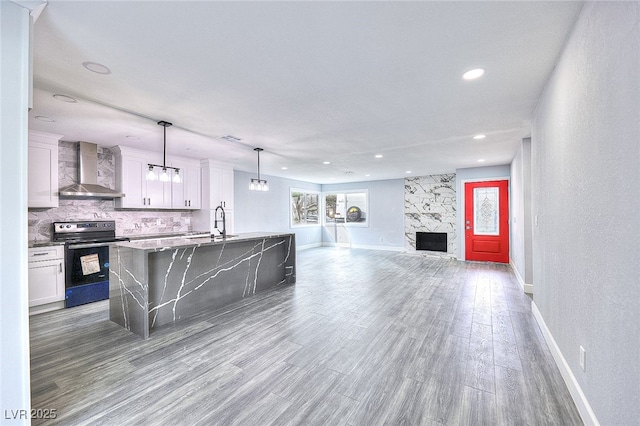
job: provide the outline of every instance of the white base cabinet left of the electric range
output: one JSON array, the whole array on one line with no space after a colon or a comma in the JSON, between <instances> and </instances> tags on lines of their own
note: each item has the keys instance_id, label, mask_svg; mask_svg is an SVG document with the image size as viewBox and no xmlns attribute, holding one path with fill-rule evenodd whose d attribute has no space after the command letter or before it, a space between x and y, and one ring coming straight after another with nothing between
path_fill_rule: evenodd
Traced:
<instances>
[{"instance_id":1,"label":"white base cabinet left of the electric range","mask_svg":"<svg viewBox=\"0 0 640 426\"><path fill-rule=\"evenodd\" d=\"M29 311L64 308L64 247L29 249Z\"/></svg>"}]
</instances>

